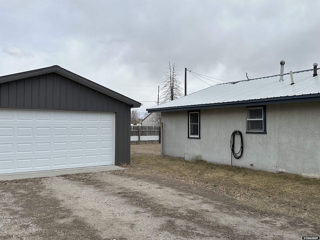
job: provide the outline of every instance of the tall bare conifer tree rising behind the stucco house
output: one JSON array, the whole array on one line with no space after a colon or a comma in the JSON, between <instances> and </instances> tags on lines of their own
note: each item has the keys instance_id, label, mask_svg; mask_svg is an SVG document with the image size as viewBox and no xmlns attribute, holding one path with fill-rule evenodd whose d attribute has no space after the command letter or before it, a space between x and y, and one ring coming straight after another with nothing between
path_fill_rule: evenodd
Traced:
<instances>
[{"instance_id":1,"label":"tall bare conifer tree rising behind the stucco house","mask_svg":"<svg viewBox=\"0 0 320 240\"><path fill-rule=\"evenodd\" d=\"M165 78L163 79L163 87L161 88L162 102L167 102L182 96L181 82L178 79L178 71L175 68L174 63L170 63L165 72Z\"/></svg>"}]
</instances>

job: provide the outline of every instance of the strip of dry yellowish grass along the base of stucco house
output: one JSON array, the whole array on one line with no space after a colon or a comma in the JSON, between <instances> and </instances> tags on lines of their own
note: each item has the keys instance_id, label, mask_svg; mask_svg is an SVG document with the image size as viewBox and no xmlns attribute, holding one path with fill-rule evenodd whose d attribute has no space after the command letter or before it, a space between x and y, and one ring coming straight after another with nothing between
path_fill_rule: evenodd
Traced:
<instances>
[{"instance_id":1,"label":"strip of dry yellowish grass along the base of stucco house","mask_svg":"<svg viewBox=\"0 0 320 240\"><path fill-rule=\"evenodd\" d=\"M147 153L132 154L128 167L139 168L144 174L166 174L183 182L218 189L257 210L320 224L320 179Z\"/></svg>"}]
</instances>

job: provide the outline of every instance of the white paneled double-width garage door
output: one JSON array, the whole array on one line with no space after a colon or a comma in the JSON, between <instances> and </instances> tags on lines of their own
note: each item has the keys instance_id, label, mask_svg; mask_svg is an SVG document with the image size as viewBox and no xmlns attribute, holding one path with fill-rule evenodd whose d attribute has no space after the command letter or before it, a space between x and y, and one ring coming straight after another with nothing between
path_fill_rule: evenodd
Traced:
<instances>
[{"instance_id":1,"label":"white paneled double-width garage door","mask_svg":"<svg viewBox=\"0 0 320 240\"><path fill-rule=\"evenodd\" d=\"M0 109L0 174L114 164L113 112Z\"/></svg>"}]
</instances>

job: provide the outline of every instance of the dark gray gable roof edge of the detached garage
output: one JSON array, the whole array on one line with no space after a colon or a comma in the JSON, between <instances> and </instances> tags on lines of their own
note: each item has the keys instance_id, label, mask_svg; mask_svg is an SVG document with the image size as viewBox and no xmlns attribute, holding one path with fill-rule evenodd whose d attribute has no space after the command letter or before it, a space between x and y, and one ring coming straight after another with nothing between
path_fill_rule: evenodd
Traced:
<instances>
[{"instance_id":1,"label":"dark gray gable roof edge of the detached garage","mask_svg":"<svg viewBox=\"0 0 320 240\"><path fill-rule=\"evenodd\" d=\"M14 73L14 74L10 74L10 75L0 76L0 84L4 83L4 82L15 81L15 80L28 78L28 77L32 77L32 76L38 76L38 75L47 74L47 73L60 74L64 77L67 77L67 78L69 78L73 81L76 81L82 85L90 87L96 91L99 91L105 95L113 97L119 101L122 101L122 102L130 105L131 107L139 107L141 105L141 103L138 101L135 101L135 100L133 100L129 97L126 97L120 93L117 93L109 88L106 88L96 82L93 82L93 81L86 79L80 75L77 75L71 71L68 71L58 65L53 65L53 66L39 68L39 69L35 69L35 70L24 71L24 72Z\"/></svg>"}]
</instances>

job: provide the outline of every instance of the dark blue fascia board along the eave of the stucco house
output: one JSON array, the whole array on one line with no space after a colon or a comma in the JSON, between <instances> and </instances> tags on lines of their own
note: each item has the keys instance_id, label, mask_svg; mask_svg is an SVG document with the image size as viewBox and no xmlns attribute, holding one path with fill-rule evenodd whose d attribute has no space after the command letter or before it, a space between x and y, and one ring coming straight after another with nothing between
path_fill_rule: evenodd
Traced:
<instances>
[{"instance_id":1,"label":"dark blue fascia board along the eave of the stucco house","mask_svg":"<svg viewBox=\"0 0 320 240\"><path fill-rule=\"evenodd\" d=\"M294 96L294 97L286 96L286 97L275 97L275 98L269 98L269 99L254 99L254 100L247 100L247 101L176 106L176 107L155 108L155 109L146 109L146 110L148 112L165 112L165 111L182 111L182 110L237 107L237 106L256 106L256 105L319 101L319 100L320 100L320 94L317 93L317 94L300 95L300 96Z\"/></svg>"}]
</instances>

